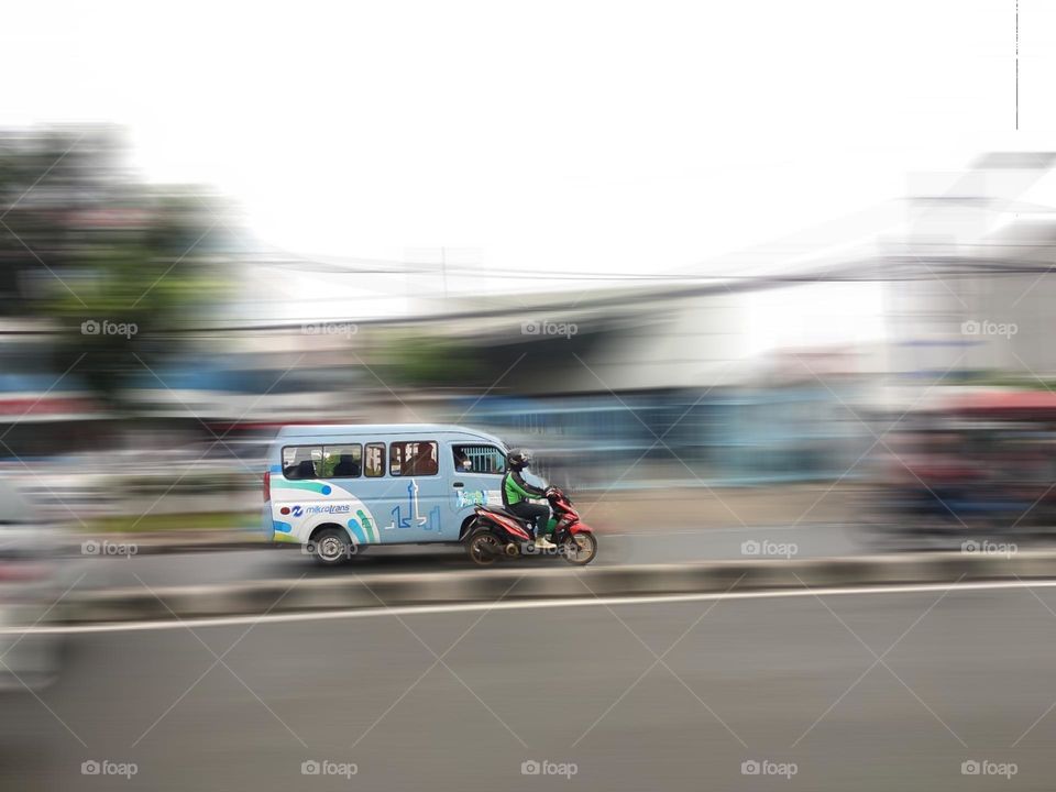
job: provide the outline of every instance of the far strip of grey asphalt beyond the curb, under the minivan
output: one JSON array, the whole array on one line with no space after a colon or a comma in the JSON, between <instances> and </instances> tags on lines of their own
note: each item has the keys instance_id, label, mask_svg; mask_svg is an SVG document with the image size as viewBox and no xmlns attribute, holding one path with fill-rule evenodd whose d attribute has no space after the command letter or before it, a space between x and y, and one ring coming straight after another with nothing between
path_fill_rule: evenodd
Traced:
<instances>
[{"instance_id":1,"label":"far strip of grey asphalt beyond the curb, under the minivan","mask_svg":"<svg viewBox=\"0 0 1056 792\"><path fill-rule=\"evenodd\" d=\"M717 559L751 558L741 544L755 541L767 551L794 552L800 558L849 556L862 552L865 544L854 526L803 525L771 528L711 528L702 530L600 535L600 552L594 562L604 564L682 563ZM559 559L525 559L527 566L563 564ZM232 581L356 572L418 572L469 569L459 547L403 546L370 548L336 571L321 570L296 548L262 548L246 551L219 551L135 557L74 558L66 570L70 581L84 573L78 588L140 585L139 579L154 586L227 583Z\"/></svg>"}]
</instances>

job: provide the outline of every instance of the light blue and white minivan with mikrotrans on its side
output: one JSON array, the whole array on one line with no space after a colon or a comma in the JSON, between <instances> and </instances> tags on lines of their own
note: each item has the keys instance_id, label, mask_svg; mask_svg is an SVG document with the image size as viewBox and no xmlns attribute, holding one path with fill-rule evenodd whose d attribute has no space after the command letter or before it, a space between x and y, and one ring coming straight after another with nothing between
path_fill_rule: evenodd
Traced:
<instances>
[{"instance_id":1,"label":"light blue and white minivan with mikrotrans on its side","mask_svg":"<svg viewBox=\"0 0 1056 792\"><path fill-rule=\"evenodd\" d=\"M457 542L475 506L502 506L506 452L458 426L284 427L267 455L265 531L328 565L367 544Z\"/></svg>"}]
</instances>

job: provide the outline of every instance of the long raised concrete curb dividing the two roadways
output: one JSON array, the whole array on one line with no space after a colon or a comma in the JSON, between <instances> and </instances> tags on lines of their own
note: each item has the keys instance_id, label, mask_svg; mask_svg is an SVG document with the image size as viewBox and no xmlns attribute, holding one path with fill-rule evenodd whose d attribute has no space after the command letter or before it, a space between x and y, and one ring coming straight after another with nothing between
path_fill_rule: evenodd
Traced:
<instances>
[{"instance_id":1,"label":"long raised concrete curb dividing the two roadways","mask_svg":"<svg viewBox=\"0 0 1056 792\"><path fill-rule=\"evenodd\" d=\"M701 594L815 586L1054 579L1056 551L1011 557L959 552L804 560L717 561L585 569L468 570L224 585L70 593L56 608L65 624L245 616L544 597ZM175 614L175 616L174 616Z\"/></svg>"}]
</instances>

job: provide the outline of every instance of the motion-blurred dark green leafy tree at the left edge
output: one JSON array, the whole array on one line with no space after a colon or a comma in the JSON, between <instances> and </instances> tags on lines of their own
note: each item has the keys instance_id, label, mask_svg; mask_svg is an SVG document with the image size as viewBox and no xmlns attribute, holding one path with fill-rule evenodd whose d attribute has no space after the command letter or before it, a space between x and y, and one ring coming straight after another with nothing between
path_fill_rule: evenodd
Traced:
<instances>
[{"instance_id":1,"label":"motion-blurred dark green leafy tree at the left edge","mask_svg":"<svg viewBox=\"0 0 1056 792\"><path fill-rule=\"evenodd\" d=\"M0 316L55 331L52 369L120 407L224 294L222 207L148 185L113 128L0 132ZM156 384L156 381L154 381Z\"/></svg>"}]
</instances>

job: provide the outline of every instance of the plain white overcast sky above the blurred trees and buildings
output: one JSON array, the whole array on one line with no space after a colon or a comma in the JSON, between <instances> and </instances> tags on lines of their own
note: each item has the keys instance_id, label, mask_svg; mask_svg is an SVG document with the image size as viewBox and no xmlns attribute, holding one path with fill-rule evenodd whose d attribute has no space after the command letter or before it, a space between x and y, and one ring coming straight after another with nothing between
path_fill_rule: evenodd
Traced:
<instances>
[{"instance_id":1,"label":"plain white overcast sky above the blurred trees and buildings","mask_svg":"<svg viewBox=\"0 0 1056 792\"><path fill-rule=\"evenodd\" d=\"M1014 0L11 3L0 123L127 124L292 251L728 272L912 172L1056 147L1056 3L1019 4L1020 132Z\"/></svg>"}]
</instances>

